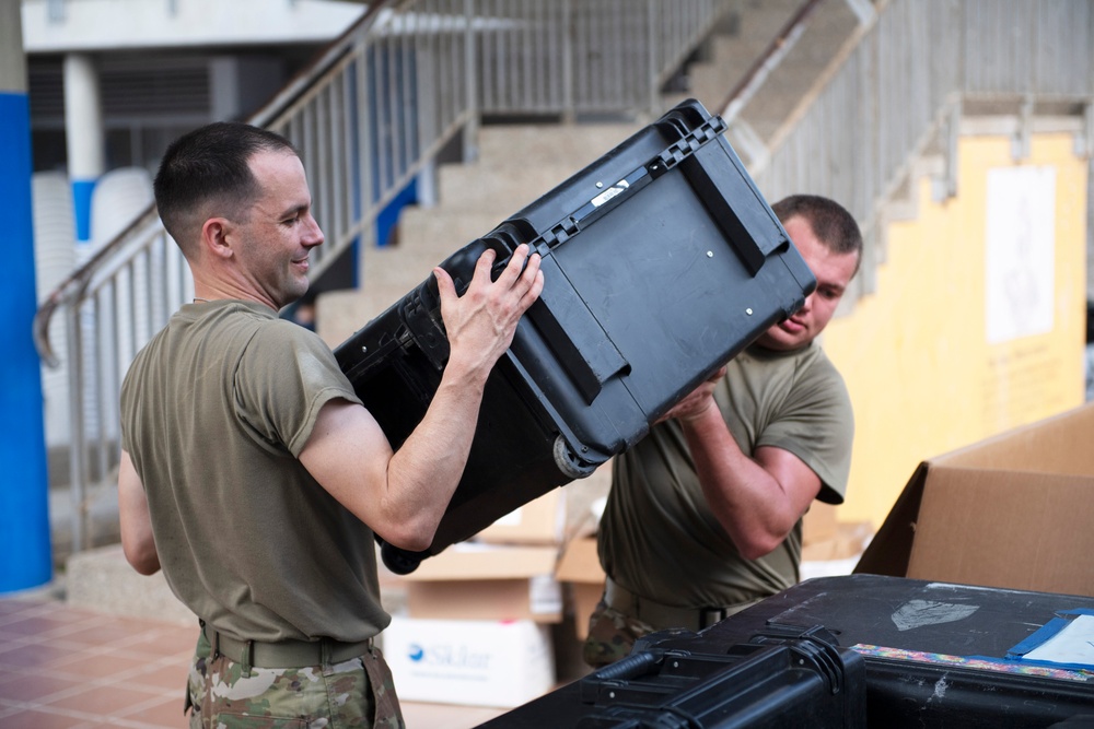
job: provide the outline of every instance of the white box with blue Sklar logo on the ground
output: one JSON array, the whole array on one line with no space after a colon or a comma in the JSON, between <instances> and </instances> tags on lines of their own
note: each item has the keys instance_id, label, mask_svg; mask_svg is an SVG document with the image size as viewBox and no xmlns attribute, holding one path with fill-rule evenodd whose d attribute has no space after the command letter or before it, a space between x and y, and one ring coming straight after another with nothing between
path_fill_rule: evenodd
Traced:
<instances>
[{"instance_id":1,"label":"white box with blue Sklar logo on the ground","mask_svg":"<svg viewBox=\"0 0 1094 729\"><path fill-rule=\"evenodd\" d=\"M401 701L512 708L555 684L550 631L533 621L393 616L381 636Z\"/></svg>"}]
</instances>

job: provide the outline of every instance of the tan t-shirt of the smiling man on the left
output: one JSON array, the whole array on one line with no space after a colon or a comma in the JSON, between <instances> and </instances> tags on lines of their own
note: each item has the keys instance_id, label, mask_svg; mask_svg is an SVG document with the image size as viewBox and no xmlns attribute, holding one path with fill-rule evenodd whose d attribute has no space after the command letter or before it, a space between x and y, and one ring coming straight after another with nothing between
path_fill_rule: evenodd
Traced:
<instances>
[{"instance_id":1,"label":"tan t-shirt of the smiling man on the left","mask_svg":"<svg viewBox=\"0 0 1094 729\"><path fill-rule=\"evenodd\" d=\"M335 398L360 402L330 349L254 303L184 306L129 368L121 444L164 576L220 631L359 642L391 621L372 531L296 460Z\"/></svg>"}]
</instances>

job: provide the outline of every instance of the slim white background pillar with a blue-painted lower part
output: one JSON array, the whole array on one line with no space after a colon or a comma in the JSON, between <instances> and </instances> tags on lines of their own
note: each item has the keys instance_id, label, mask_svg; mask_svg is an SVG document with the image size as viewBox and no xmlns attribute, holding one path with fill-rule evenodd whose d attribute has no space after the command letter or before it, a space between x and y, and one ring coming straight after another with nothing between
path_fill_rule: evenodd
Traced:
<instances>
[{"instance_id":1,"label":"slim white background pillar with a blue-painted lower part","mask_svg":"<svg viewBox=\"0 0 1094 729\"><path fill-rule=\"evenodd\" d=\"M98 71L86 54L65 57L65 138L79 243L91 240L91 193L106 172Z\"/></svg>"}]
</instances>

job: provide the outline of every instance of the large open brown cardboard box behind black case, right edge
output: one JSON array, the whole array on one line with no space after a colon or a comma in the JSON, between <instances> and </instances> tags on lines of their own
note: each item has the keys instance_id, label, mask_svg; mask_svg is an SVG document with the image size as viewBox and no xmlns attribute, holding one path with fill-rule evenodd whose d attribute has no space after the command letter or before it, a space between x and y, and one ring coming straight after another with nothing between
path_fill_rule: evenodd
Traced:
<instances>
[{"instance_id":1,"label":"large open brown cardboard box behind black case, right edge","mask_svg":"<svg viewBox=\"0 0 1094 729\"><path fill-rule=\"evenodd\" d=\"M1094 595L1094 403L919 465L857 573Z\"/></svg>"}]
</instances>

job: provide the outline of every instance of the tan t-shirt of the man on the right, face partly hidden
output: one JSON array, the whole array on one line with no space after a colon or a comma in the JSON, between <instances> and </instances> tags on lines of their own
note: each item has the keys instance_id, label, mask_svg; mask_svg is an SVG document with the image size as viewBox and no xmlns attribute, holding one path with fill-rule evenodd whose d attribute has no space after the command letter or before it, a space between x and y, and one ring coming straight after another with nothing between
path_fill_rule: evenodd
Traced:
<instances>
[{"instance_id":1,"label":"tan t-shirt of the man on the right, face partly hidden","mask_svg":"<svg viewBox=\"0 0 1094 729\"><path fill-rule=\"evenodd\" d=\"M851 403L819 345L749 348L730 362L714 400L745 454L789 450L821 477L818 499L843 501ZM801 528L770 554L743 558L707 506L679 424L667 421L616 457L598 549L607 574L632 592L680 608L731 607L799 580Z\"/></svg>"}]
</instances>

